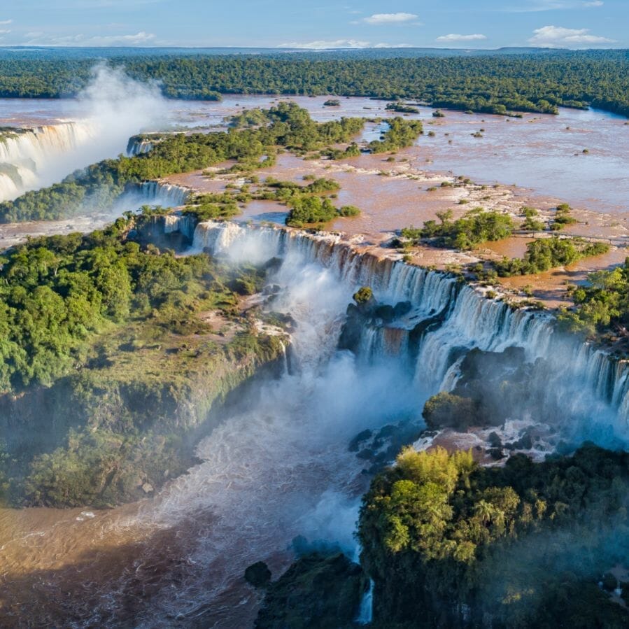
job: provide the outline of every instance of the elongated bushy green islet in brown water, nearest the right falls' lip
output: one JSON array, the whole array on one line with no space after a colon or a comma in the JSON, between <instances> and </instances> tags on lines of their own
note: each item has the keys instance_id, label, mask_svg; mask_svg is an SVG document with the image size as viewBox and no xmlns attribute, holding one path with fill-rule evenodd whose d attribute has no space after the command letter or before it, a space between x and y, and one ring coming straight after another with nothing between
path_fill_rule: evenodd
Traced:
<instances>
[{"instance_id":1,"label":"elongated bushy green islet in brown water, nearest the right falls' lip","mask_svg":"<svg viewBox=\"0 0 629 629\"><path fill-rule=\"evenodd\" d=\"M606 243L588 243L581 238L538 238L526 246L523 258L509 260L504 257L494 262L498 275L529 275L549 271L555 267L565 267L591 255L602 255L609 251Z\"/></svg>"}]
</instances>

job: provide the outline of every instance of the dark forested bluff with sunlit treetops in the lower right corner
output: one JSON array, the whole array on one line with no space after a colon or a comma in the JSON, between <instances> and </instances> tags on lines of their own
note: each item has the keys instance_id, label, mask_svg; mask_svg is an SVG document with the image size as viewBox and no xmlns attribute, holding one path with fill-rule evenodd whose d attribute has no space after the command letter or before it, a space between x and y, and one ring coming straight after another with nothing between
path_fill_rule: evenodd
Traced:
<instances>
[{"instance_id":1,"label":"dark forested bluff with sunlit treetops in the lower right corner","mask_svg":"<svg viewBox=\"0 0 629 629\"><path fill-rule=\"evenodd\" d=\"M628 463L593 445L504 467L402 451L360 511L372 626L626 626L597 582L629 551Z\"/></svg>"}]
</instances>

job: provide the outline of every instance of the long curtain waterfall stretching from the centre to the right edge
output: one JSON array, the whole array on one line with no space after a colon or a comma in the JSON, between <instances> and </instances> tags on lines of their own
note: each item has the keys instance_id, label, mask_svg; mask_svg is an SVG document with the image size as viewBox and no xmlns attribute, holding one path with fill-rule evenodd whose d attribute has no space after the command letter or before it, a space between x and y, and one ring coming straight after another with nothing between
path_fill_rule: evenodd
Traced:
<instances>
[{"instance_id":1,"label":"long curtain waterfall stretching from the centre to the right edge","mask_svg":"<svg viewBox=\"0 0 629 629\"><path fill-rule=\"evenodd\" d=\"M416 386L433 395L458 379L460 358L473 348L504 351L524 348L527 362L544 359L544 395L565 409L565 415L593 425L612 425L624 432L629 419L629 363L594 344L560 334L549 313L514 309L481 290L440 271L401 261L360 255L339 236L308 234L278 227L253 227L234 222L197 225L193 248L209 250L232 262L262 263L299 251L337 274L339 281L358 288L368 285L380 302L411 302L411 311L394 326L366 327L360 354L404 355L416 346L411 361Z\"/></svg>"}]
</instances>

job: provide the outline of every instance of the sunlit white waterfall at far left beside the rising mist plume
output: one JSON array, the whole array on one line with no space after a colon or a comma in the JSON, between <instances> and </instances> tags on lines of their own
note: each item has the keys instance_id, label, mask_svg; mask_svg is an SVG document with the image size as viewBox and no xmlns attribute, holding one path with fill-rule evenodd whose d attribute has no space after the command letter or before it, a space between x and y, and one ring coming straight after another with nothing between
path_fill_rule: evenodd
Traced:
<instances>
[{"instance_id":1,"label":"sunlit white waterfall at far left beside the rising mist plume","mask_svg":"<svg viewBox=\"0 0 629 629\"><path fill-rule=\"evenodd\" d=\"M37 187L43 170L93 139L94 129L88 122L0 132L0 201Z\"/></svg>"}]
</instances>

